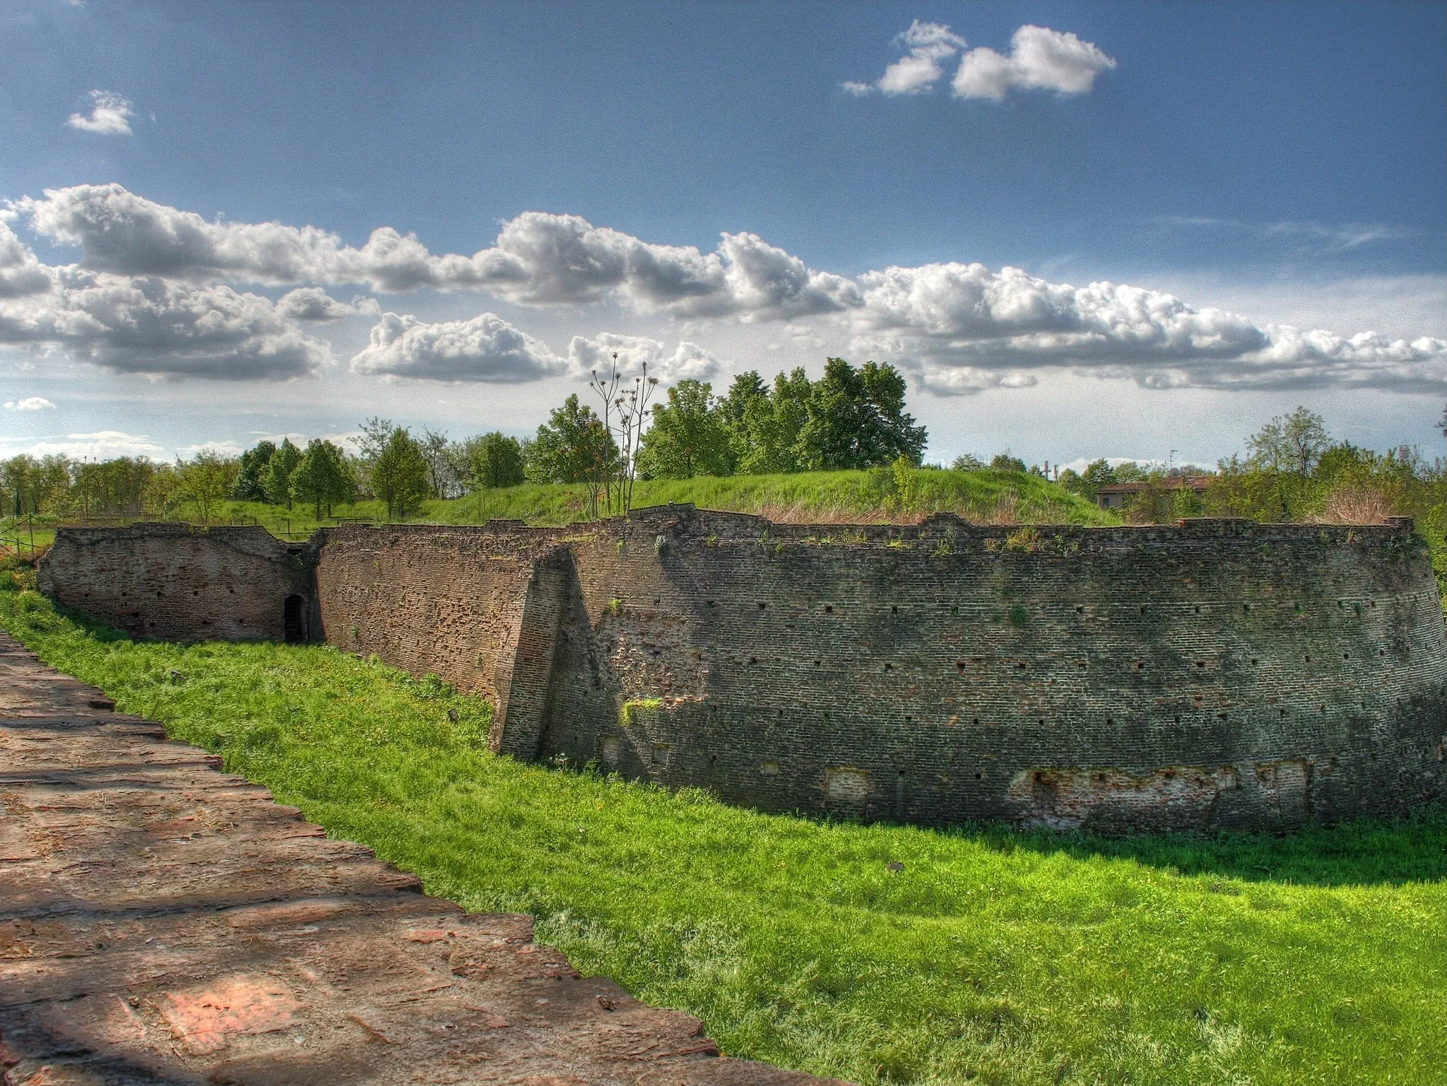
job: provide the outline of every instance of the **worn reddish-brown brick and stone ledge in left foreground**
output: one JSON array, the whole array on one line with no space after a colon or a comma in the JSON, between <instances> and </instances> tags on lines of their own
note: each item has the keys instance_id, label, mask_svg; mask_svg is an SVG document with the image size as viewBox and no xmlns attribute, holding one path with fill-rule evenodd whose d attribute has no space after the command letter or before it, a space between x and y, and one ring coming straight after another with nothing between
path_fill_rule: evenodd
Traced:
<instances>
[{"instance_id":1,"label":"worn reddish-brown brick and stone ledge in left foreground","mask_svg":"<svg viewBox=\"0 0 1447 1086\"><path fill-rule=\"evenodd\" d=\"M822 1086L218 766L0 633L6 1086Z\"/></svg>"}]
</instances>

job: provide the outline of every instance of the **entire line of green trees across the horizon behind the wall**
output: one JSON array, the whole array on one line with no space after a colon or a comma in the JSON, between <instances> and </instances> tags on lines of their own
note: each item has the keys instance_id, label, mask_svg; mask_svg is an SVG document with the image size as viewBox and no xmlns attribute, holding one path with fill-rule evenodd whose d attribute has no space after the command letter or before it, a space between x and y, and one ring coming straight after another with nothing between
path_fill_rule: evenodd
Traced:
<instances>
[{"instance_id":1,"label":"entire line of green trees across the horizon behind the wall","mask_svg":"<svg viewBox=\"0 0 1447 1086\"><path fill-rule=\"evenodd\" d=\"M708 382L680 380L651 402L657 385L647 372L621 379L615 362L589 385L598 411L570 395L524 438L495 431L454 441L446 431L414 434L373 416L352 453L315 438L305 447L260 441L239 457L200 451L172 464L17 456L0 461L0 518L184 513L208 523L230 500L301 503L321 519L336 506L375 499L388 519L405 519L430 497L524 482L583 483L587 512L599 515L625 510L635 479L920 466L926 432L906 411L904 379L891 366L829 359L818 380L796 369L771 383L750 372L724 395ZM1447 435L1447 414L1440 425ZM988 464L962 456L951 467L1049 476L1009 451ZM1207 476L1207 483L1181 486L1181 474ZM1082 471L1056 470L1053 479L1091 500L1104 486L1139 483L1123 510L1139 523L1202 515L1369 523L1406 515L1444 541L1434 550L1447 554L1447 464L1405 447L1375 453L1334 440L1307 408L1268 422L1247 438L1244 454L1214 470L1098 458Z\"/></svg>"}]
</instances>

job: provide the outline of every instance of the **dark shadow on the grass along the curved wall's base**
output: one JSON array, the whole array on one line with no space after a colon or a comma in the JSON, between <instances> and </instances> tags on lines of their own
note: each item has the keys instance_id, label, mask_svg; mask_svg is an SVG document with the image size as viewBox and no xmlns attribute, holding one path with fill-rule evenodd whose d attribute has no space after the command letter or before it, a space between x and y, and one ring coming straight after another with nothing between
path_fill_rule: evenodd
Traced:
<instances>
[{"instance_id":1,"label":"dark shadow on the grass along the curved wall's base","mask_svg":"<svg viewBox=\"0 0 1447 1086\"><path fill-rule=\"evenodd\" d=\"M1443 805L1424 807L1401 821L1360 818L1333 827L1305 826L1283 834L1111 839L1003 826L959 833L998 852L1023 849L1074 859L1133 859L1179 875L1223 875L1250 882L1349 886L1447 879L1447 807Z\"/></svg>"}]
</instances>

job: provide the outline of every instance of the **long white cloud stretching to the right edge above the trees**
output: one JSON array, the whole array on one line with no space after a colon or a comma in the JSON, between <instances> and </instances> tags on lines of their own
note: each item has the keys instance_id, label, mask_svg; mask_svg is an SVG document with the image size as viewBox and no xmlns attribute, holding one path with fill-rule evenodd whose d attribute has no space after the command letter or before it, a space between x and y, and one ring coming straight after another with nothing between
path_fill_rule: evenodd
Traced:
<instances>
[{"instance_id":1,"label":"long white cloud stretching to the right edge above the trees","mask_svg":"<svg viewBox=\"0 0 1447 1086\"><path fill-rule=\"evenodd\" d=\"M1447 341L1430 337L1257 327L1163 291L1075 288L1016 268L888 268L861 283L854 347L903 363L943 395L1020 386L1052 366L1147 388L1447 388Z\"/></svg>"}]
</instances>

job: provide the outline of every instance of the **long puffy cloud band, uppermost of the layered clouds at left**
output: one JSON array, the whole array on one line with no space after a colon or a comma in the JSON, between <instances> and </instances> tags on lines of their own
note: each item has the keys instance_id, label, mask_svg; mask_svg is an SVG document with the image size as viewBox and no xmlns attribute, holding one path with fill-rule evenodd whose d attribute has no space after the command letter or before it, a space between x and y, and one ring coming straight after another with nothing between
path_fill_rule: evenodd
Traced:
<instances>
[{"instance_id":1,"label":"long puffy cloud band, uppermost of the layered clouds at left","mask_svg":"<svg viewBox=\"0 0 1447 1086\"><path fill-rule=\"evenodd\" d=\"M315 227L210 223L122 185L46 189L12 204L32 228L75 244L87 268L188 282L368 283L375 291L479 289L521 305L608 298L679 317L787 320L857 304L854 283L816 272L757 234L724 234L713 253L642 241L577 215L528 211L491 249L433 255L379 227L362 249Z\"/></svg>"}]
</instances>

